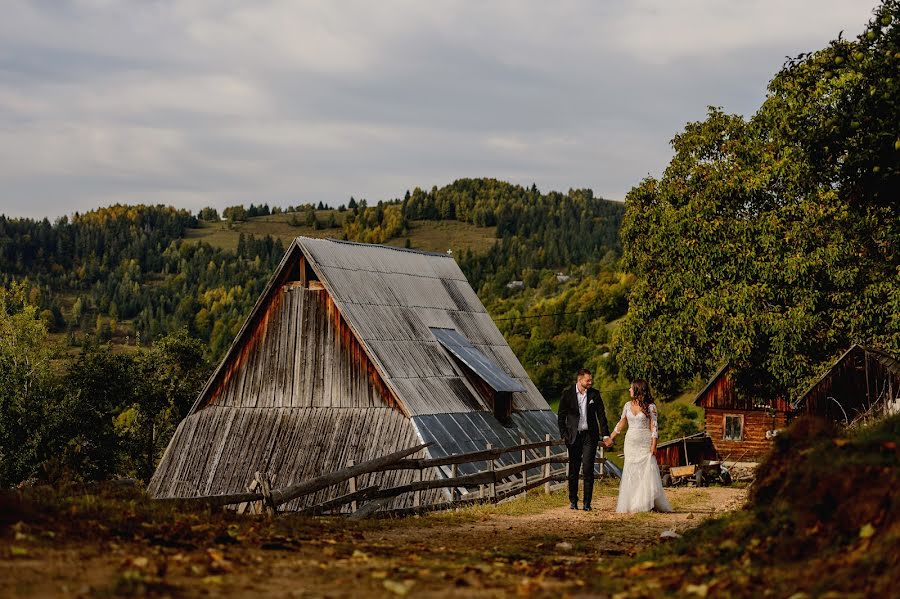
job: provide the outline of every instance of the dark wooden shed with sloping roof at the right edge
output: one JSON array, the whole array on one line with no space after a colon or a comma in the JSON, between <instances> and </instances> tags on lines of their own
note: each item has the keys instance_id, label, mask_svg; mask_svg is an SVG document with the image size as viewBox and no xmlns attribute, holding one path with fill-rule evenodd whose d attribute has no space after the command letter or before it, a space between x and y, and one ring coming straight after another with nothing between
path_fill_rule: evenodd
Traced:
<instances>
[{"instance_id":1,"label":"dark wooden shed with sloping roof at the right edge","mask_svg":"<svg viewBox=\"0 0 900 599\"><path fill-rule=\"evenodd\" d=\"M794 403L812 414L851 425L900 412L900 361L855 344Z\"/></svg>"}]
</instances>

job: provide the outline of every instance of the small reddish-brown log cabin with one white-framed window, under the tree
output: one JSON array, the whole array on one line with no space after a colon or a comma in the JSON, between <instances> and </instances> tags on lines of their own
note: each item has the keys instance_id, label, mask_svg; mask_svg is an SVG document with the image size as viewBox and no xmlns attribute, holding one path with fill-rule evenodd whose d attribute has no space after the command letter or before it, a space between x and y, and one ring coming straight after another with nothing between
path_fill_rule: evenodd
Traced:
<instances>
[{"instance_id":1,"label":"small reddish-brown log cabin with one white-framed window, under the tree","mask_svg":"<svg viewBox=\"0 0 900 599\"><path fill-rule=\"evenodd\" d=\"M706 413L706 432L719 457L730 462L761 460L791 412L784 398L760 401L738 394L727 365L697 394L694 405Z\"/></svg>"}]
</instances>

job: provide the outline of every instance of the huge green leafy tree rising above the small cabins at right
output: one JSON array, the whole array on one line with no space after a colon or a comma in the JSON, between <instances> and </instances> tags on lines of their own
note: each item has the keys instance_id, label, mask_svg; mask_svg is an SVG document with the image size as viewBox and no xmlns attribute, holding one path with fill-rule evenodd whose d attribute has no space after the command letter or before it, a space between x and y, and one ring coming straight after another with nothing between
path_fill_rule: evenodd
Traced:
<instances>
[{"instance_id":1,"label":"huge green leafy tree rising above the small cabins at right","mask_svg":"<svg viewBox=\"0 0 900 599\"><path fill-rule=\"evenodd\" d=\"M626 373L671 393L730 362L771 397L851 342L900 351L898 18L789 60L749 120L710 109L631 190Z\"/></svg>"}]
</instances>

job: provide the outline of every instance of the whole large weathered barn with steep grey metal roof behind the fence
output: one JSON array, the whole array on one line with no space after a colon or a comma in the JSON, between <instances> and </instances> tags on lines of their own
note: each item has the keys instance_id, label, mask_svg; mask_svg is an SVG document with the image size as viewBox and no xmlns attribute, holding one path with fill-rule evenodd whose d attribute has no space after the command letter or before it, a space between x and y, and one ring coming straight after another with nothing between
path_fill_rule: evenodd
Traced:
<instances>
[{"instance_id":1,"label":"whole large weathered barn with steep grey metal roof behind the fence","mask_svg":"<svg viewBox=\"0 0 900 599\"><path fill-rule=\"evenodd\" d=\"M256 471L281 488L423 442L433 445L411 457L547 434L559 436L556 415L453 258L298 237L179 424L148 491L242 492ZM463 464L459 474L486 467ZM422 476L449 474L446 467ZM376 473L359 485L385 488L417 476ZM282 509L347 492L348 483L336 485ZM429 491L422 502L446 493ZM401 495L388 507L412 501Z\"/></svg>"}]
</instances>

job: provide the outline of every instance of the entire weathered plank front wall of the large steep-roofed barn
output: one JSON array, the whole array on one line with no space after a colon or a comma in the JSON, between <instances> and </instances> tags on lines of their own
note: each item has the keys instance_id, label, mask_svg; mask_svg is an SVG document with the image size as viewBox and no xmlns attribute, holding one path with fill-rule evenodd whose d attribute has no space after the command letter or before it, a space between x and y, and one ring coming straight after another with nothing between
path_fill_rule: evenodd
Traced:
<instances>
[{"instance_id":1,"label":"entire weathered plank front wall of the large steep-roofed barn","mask_svg":"<svg viewBox=\"0 0 900 599\"><path fill-rule=\"evenodd\" d=\"M420 442L324 289L284 285L239 351L209 400L178 427L151 480L151 495L243 491L256 471L283 487ZM414 474L367 475L359 484L394 486ZM347 483L331 487L285 509L347 489ZM411 501L402 496L392 507Z\"/></svg>"}]
</instances>

